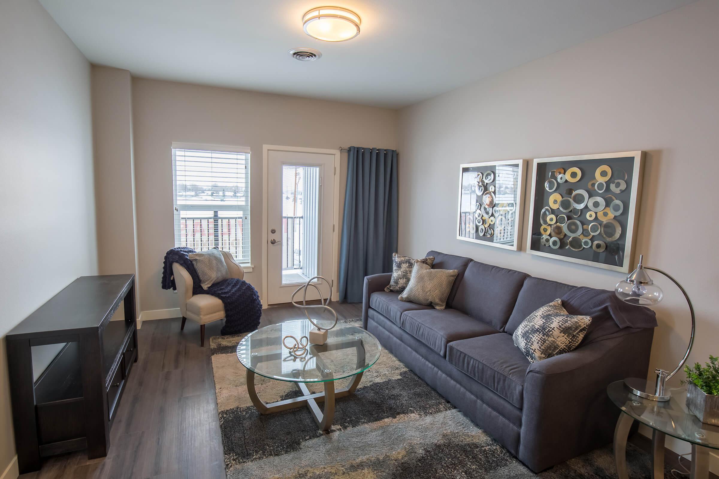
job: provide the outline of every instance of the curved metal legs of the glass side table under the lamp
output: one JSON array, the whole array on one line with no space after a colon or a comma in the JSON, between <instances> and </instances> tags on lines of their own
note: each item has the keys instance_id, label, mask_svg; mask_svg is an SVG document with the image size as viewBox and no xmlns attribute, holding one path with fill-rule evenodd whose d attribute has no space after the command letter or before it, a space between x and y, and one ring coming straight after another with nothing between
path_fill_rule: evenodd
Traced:
<instances>
[{"instance_id":1,"label":"curved metal legs of the glass side table under the lamp","mask_svg":"<svg viewBox=\"0 0 719 479\"><path fill-rule=\"evenodd\" d=\"M633 417L621 413L617 426L614 429L614 460L617 465L619 479L629 479L627 470L626 449L629 429L633 424ZM651 477L664 479L664 439L667 434L653 430L651 436ZM692 444L692 471L691 479L705 479L709 477L709 449Z\"/></svg>"}]
</instances>

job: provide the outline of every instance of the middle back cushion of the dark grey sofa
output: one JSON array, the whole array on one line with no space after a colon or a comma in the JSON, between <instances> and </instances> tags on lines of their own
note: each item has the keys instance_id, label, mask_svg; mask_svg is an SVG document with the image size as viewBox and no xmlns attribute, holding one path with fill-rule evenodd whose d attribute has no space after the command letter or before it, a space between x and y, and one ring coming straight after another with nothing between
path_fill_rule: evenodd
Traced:
<instances>
[{"instance_id":1,"label":"middle back cushion of the dark grey sofa","mask_svg":"<svg viewBox=\"0 0 719 479\"><path fill-rule=\"evenodd\" d=\"M452 307L502 330L528 276L521 271L472 261L464 271Z\"/></svg>"}]
</instances>

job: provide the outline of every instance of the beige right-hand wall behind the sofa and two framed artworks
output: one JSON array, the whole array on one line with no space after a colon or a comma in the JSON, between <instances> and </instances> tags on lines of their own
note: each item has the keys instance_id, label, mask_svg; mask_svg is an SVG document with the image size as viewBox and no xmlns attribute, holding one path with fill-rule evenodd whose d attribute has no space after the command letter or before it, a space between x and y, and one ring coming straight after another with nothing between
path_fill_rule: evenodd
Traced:
<instances>
[{"instance_id":1,"label":"beige right-hand wall behind the sofa and two framed artworks","mask_svg":"<svg viewBox=\"0 0 719 479\"><path fill-rule=\"evenodd\" d=\"M404 108L400 253L434 248L612 289L622 274L455 239L458 165L645 150L637 251L692 297L690 361L717 355L718 25L719 2L698 1ZM651 368L670 368L686 348L690 318L679 291L659 274L655 281L666 296L656 308Z\"/></svg>"}]
</instances>

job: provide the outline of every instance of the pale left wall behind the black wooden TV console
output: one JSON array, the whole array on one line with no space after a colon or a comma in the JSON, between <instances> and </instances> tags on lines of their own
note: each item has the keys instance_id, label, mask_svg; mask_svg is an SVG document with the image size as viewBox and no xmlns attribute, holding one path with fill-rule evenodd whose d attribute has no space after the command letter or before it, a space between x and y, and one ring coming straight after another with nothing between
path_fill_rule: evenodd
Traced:
<instances>
[{"instance_id":1,"label":"pale left wall behind the black wooden TV console","mask_svg":"<svg viewBox=\"0 0 719 479\"><path fill-rule=\"evenodd\" d=\"M4 335L96 274L97 248L90 64L37 0L4 0L0 65L2 475L15 455Z\"/></svg>"}]
</instances>

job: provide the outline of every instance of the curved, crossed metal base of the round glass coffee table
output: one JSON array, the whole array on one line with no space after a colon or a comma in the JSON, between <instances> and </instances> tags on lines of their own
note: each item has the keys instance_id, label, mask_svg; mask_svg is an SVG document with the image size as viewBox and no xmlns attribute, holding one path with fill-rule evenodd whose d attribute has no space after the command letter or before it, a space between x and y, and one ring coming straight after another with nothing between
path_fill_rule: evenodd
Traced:
<instances>
[{"instance_id":1,"label":"curved, crossed metal base of the round glass coffee table","mask_svg":"<svg viewBox=\"0 0 719 479\"><path fill-rule=\"evenodd\" d=\"M255 391L255 373L247 369L247 393L249 393L249 399L252 399L252 404L255 404L257 411L260 411L261 414L272 414L273 412L286 411L287 409L295 409L306 405L319 429L329 431L334 419L334 400L352 394L361 380L362 373L355 374L349 381L349 385L342 389L335 389L334 381L324 381L324 392L314 394L310 393L305 383L295 383L298 389L302 391L303 396L267 404L257 396L257 391ZM324 402L323 409L319 409L318 402Z\"/></svg>"}]
</instances>

